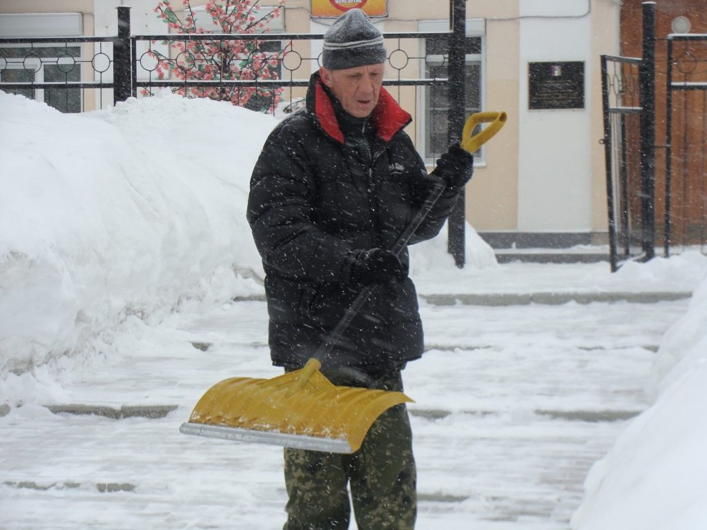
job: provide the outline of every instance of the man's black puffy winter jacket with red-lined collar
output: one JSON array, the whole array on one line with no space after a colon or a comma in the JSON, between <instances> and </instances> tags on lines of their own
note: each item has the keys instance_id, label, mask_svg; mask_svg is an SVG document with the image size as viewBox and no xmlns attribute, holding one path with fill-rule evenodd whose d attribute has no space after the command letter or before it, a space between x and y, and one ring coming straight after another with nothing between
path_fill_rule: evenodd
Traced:
<instances>
[{"instance_id":1,"label":"man's black puffy winter jacket with red-lined collar","mask_svg":"<svg viewBox=\"0 0 707 530\"><path fill-rule=\"evenodd\" d=\"M347 254L390 249L434 182L402 130L410 114L385 88L370 118L370 157L344 138L332 98L315 73L306 108L272 131L250 182L247 219L266 273L278 366L301 367L314 355L363 287L349 281ZM457 194L443 194L411 244L436 236L456 201ZM400 258L409 260L407 249ZM375 289L324 364L376 373L422 353L417 295L407 278Z\"/></svg>"}]
</instances>

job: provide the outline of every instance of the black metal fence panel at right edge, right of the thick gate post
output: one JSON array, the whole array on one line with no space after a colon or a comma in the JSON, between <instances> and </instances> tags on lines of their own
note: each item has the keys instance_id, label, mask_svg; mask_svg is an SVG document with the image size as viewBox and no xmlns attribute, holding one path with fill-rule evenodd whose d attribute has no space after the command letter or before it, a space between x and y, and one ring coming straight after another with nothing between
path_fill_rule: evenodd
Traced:
<instances>
[{"instance_id":1,"label":"black metal fence panel at right edge, right of the thick gate post","mask_svg":"<svg viewBox=\"0 0 707 530\"><path fill-rule=\"evenodd\" d=\"M667 37L664 252L707 239L707 35Z\"/></svg>"}]
</instances>

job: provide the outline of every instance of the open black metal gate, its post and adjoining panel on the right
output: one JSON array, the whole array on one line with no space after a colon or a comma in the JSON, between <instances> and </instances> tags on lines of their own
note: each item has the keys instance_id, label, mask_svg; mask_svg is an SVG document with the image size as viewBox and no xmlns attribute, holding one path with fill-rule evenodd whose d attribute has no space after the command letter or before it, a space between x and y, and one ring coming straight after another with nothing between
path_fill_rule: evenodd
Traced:
<instances>
[{"instance_id":1,"label":"open black metal gate, its post and adjoining panel on the right","mask_svg":"<svg viewBox=\"0 0 707 530\"><path fill-rule=\"evenodd\" d=\"M656 98L658 41L661 52L667 47L666 82ZM656 242L665 257L707 252L707 34L656 39L655 4L644 3L643 57L602 56L602 103L612 271L625 259L650 259ZM665 120L664 145L656 145L656 118L661 127ZM665 150L659 175L656 149Z\"/></svg>"}]
</instances>

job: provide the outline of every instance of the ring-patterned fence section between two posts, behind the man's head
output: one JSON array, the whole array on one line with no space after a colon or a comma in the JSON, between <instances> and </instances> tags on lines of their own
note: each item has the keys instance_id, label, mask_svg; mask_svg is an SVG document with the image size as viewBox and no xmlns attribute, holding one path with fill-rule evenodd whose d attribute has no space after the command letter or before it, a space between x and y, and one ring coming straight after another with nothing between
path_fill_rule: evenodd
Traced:
<instances>
[{"instance_id":1,"label":"ring-patterned fence section between two posts, behind the man's head","mask_svg":"<svg viewBox=\"0 0 707 530\"><path fill-rule=\"evenodd\" d=\"M386 33L384 37L387 46L391 48L392 43L395 48L388 53L383 85L397 87L398 98L401 87L448 84L448 78L406 76L407 70L417 69L412 67L415 62L426 61L426 57L410 51L416 42L406 46L403 41L446 41L449 33ZM298 44L322 39L323 35L312 33L136 35L131 39L132 95L172 88L192 97L203 97L204 93L226 100L250 96L262 102L256 107L265 112L272 112L284 100L289 107L294 104L295 89L307 87L310 73L321 64L321 54L312 57ZM238 41L250 46L233 46ZM182 43L187 43L186 49ZM242 48L243 54L233 53L234 47ZM248 89L252 89L250 93Z\"/></svg>"}]
</instances>

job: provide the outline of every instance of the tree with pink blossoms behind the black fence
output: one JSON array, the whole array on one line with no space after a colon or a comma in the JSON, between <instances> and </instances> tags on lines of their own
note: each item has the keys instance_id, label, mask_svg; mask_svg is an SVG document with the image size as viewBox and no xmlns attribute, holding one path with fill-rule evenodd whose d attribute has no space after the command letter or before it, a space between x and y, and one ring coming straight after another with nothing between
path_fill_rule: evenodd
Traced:
<instances>
[{"instance_id":1,"label":"tree with pink blossoms behind the black fence","mask_svg":"<svg viewBox=\"0 0 707 530\"><path fill-rule=\"evenodd\" d=\"M207 0L206 13L223 33L256 33L269 31L267 23L280 15L280 7L260 11L259 0ZM184 20L175 13L170 0L157 4L155 12L177 33L211 33L197 27L189 0L182 0ZM282 6L284 0L280 0ZM276 43L277 49L272 49ZM148 54L156 59L158 79L183 81L232 81L238 79L279 79L282 52L279 41L266 40L189 40L163 41L169 45L170 57L151 47ZM253 110L271 111L281 100L281 88L234 86L185 86L173 92L188 98L229 101ZM148 95L143 90L143 95Z\"/></svg>"}]
</instances>

